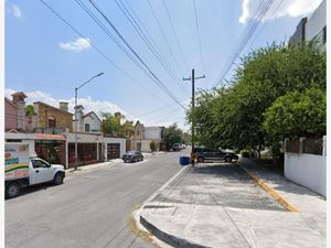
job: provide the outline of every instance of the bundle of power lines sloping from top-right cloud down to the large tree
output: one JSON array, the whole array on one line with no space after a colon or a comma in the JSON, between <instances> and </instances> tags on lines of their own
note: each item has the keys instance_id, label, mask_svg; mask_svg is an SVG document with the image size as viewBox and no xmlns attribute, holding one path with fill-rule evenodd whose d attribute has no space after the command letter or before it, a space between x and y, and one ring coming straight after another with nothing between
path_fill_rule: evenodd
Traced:
<instances>
[{"instance_id":1,"label":"bundle of power lines sloping from top-right cloud down to the large tree","mask_svg":"<svg viewBox=\"0 0 331 248\"><path fill-rule=\"evenodd\" d=\"M227 63L225 64L225 66L223 66L223 69L221 71L222 72L221 79L214 84L214 87L217 87L223 82L224 77L227 75L232 65L234 64L234 62L237 60L237 57L243 52L247 42L250 40L252 34L256 31L257 26L259 25L260 20L263 20L263 18L269 10L273 2L274 2L274 0L267 0L267 1L261 1L259 3L259 7L257 8L257 11L256 11L254 18L249 21L249 24L246 26L246 29L242 33L241 39L238 40L238 43L235 46L235 50L233 51L229 58L227 60Z\"/></svg>"}]
</instances>

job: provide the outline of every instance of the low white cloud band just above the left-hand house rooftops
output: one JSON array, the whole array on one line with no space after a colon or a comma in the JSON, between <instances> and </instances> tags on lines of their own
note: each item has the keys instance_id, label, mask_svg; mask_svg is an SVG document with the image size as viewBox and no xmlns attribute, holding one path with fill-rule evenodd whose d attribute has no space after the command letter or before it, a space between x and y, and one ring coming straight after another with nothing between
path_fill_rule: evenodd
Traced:
<instances>
[{"instance_id":1,"label":"low white cloud band just above the left-hand house rooftops","mask_svg":"<svg viewBox=\"0 0 331 248\"><path fill-rule=\"evenodd\" d=\"M15 93L17 90L13 89L4 89L4 96L8 97L9 99L12 99L11 95ZM75 98L68 98L68 99L55 99L51 95L36 90L36 91L24 91L25 95L28 96L25 98L25 101L28 105L32 105L35 101L42 101L47 105L51 105L53 107L58 108L58 103L60 101L67 101L68 103L68 111L74 112L74 107L75 107ZM83 105L84 107L84 112L87 114L89 111L95 111L100 118L103 112L117 112L120 111L122 115L127 116L127 112L124 111L118 105L113 104L107 100L94 100L90 97L87 98L78 98L78 105Z\"/></svg>"}]
</instances>

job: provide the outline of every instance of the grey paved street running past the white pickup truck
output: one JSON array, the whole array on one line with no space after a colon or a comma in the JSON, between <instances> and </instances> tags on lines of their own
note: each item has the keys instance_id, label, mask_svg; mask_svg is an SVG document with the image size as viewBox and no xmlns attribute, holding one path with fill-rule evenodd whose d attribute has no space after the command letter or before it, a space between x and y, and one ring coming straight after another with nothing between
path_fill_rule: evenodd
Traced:
<instances>
[{"instance_id":1,"label":"grey paved street running past the white pickup truck","mask_svg":"<svg viewBox=\"0 0 331 248\"><path fill-rule=\"evenodd\" d=\"M131 211L180 169L179 152L67 176L6 201L7 248L152 247L127 228Z\"/></svg>"}]
</instances>

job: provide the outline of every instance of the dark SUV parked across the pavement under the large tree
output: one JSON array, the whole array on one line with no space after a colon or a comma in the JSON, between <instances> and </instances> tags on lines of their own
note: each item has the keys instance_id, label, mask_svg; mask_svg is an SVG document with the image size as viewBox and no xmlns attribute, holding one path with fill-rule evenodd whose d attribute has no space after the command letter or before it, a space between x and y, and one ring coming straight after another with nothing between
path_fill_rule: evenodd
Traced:
<instances>
[{"instance_id":1,"label":"dark SUV parked across the pavement under the large tree","mask_svg":"<svg viewBox=\"0 0 331 248\"><path fill-rule=\"evenodd\" d=\"M205 161L234 162L238 160L238 155L233 152L221 151L220 149L200 148L196 149L196 159L200 163Z\"/></svg>"}]
</instances>

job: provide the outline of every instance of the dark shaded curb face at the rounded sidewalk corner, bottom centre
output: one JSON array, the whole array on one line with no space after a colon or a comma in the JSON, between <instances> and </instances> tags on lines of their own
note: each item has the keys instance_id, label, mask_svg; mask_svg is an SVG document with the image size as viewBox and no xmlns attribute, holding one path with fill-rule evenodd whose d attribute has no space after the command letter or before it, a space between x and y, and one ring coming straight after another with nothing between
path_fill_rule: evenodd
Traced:
<instances>
[{"instance_id":1,"label":"dark shaded curb face at the rounded sidewalk corner, bottom centre","mask_svg":"<svg viewBox=\"0 0 331 248\"><path fill-rule=\"evenodd\" d=\"M167 234L166 231L162 231L161 229L159 229L158 227L156 227L154 225L149 223L141 215L140 215L140 224L147 230L149 230L154 237L157 237L158 239L167 242L170 246L180 247L180 248L211 248L209 246L201 246L201 245L197 245L195 242L189 241L184 238L179 238L177 236Z\"/></svg>"}]
</instances>

